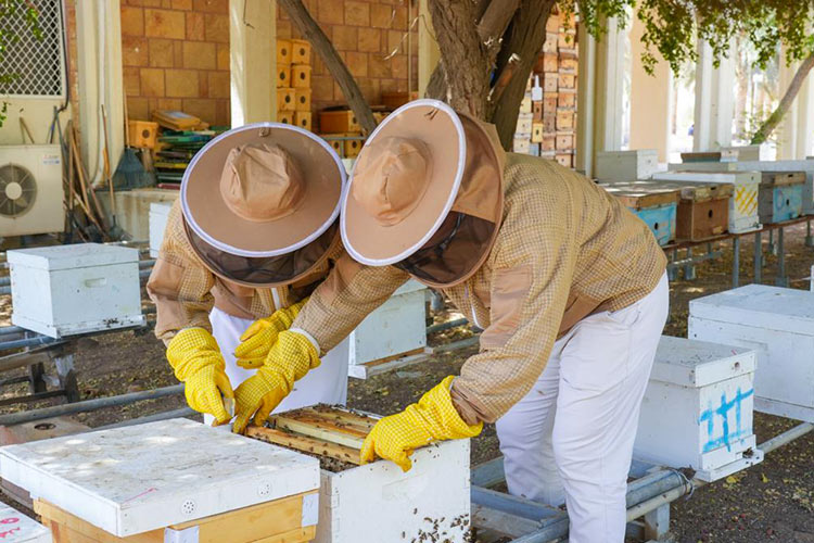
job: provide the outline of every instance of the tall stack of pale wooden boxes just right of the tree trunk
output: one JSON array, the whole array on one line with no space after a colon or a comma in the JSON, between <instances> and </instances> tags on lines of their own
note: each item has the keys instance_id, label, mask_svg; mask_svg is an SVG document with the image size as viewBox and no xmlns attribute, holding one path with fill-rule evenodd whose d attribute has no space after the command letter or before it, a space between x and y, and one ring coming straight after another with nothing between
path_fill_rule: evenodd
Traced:
<instances>
[{"instance_id":1,"label":"tall stack of pale wooden boxes just right of the tree trunk","mask_svg":"<svg viewBox=\"0 0 814 543\"><path fill-rule=\"evenodd\" d=\"M546 41L529 80L514 134L514 152L574 166L576 146L576 33L574 22L551 15Z\"/></svg>"}]
</instances>

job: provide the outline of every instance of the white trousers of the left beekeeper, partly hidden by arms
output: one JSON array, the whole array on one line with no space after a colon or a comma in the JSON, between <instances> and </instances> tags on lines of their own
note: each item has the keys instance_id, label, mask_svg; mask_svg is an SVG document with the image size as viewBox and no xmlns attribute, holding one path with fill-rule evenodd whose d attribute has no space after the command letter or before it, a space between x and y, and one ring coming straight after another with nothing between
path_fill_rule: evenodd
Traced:
<instances>
[{"instance_id":1,"label":"white trousers of the left beekeeper, partly hidden by arms","mask_svg":"<svg viewBox=\"0 0 814 543\"><path fill-rule=\"evenodd\" d=\"M244 369L234 359L234 350L240 345L241 334L253 320L233 317L218 308L209 313L212 334L218 342L226 362L226 375L233 389L252 377L256 369ZM321 364L294 383L294 388L272 413L315 405L319 403L344 405L347 402L348 340L345 339L322 356ZM212 424L214 417L204 415L204 422Z\"/></svg>"}]
</instances>

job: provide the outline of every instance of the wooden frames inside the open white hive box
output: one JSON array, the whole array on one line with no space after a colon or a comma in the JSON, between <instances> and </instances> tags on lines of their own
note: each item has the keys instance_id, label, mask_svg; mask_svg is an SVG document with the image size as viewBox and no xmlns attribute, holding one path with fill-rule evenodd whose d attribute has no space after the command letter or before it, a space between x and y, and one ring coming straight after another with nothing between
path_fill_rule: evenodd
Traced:
<instances>
[{"instance_id":1,"label":"wooden frames inside the open white hive box","mask_svg":"<svg viewBox=\"0 0 814 543\"><path fill-rule=\"evenodd\" d=\"M359 465L359 450L377 419L336 407L304 407L272 415L269 428L250 426L246 435L304 453Z\"/></svg>"}]
</instances>

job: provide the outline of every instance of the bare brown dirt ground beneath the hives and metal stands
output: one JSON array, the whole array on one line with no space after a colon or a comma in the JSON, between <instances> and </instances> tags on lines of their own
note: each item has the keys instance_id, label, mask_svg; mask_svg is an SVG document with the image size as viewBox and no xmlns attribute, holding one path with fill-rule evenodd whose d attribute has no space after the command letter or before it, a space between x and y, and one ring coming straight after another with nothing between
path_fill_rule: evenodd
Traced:
<instances>
[{"instance_id":1,"label":"bare brown dirt ground beneath the hives and metal stands","mask_svg":"<svg viewBox=\"0 0 814 543\"><path fill-rule=\"evenodd\" d=\"M790 287L807 289L814 249L804 247L804 225L786 232L786 268ZM767 249L764 235L764 251ZM671 283L671 314L665 333L684 336L687 331L689 300L730 288L730 242L723 247L723 256L697 266L697 279L684 280L681 275ZM765 253L764 253L765 254ZM741 285L752 282L752 238L743 238L741 248ZM777 258L766 255L763 282L773 285ZM8 320L10 301L0 299L0 324ZM436 321L456 318L448 313L434 316ZM471 330L458 328L430 338L433 345L471 337ZM476 351L468 348L436 354L425 363L377 376L368 380L351 379L348 404L380 414L399 411L416 401L425 390L445 376L456 374L463 361ZM76 368L84 400L122 394L174 384L163 345L151 333L109 333L84 339L77 344ZM13 374L3 377L11 377ZM22 375L22 374L21 374ZM8 386L2 397L25 393L25 386ZM59 401L55 401L59 402ZM31 407L49 405L41 402ZM182 396L141 402L77 415L90 427L141 417L185 405ZM10 413L22 406L8 406ZM796 422L755 414L755 433L763 442L791 428ZM472 464L499 454L494 426L474 440ZM7 496L0 496L5 500ZM814 433L791 445L768 454L765 460L747 471L698 489L688 500L679 500L672 508L672 531L678 542L764 542L814 543Z\"/></svg>"}]
</instances>

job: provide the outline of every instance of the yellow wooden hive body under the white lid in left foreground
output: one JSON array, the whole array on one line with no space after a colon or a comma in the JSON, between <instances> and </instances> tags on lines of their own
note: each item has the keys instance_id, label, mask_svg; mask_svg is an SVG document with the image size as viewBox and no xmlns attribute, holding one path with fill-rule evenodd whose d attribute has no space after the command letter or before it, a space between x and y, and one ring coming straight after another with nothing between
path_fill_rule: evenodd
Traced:
<instances>
[{"instance_id":1,"label":"yellow wooden hive body under the white lid in left foreground","mask_svg":"<svg viewBox=\"0 0 814 543\"><path fill-rule=\"evenodd\" d=\"M174 532L198 528L199 543L305 543L316 536L317 526L303 527L303 500L317 491L244 507L158 530L117 538L44 500L35 500L34 510L51 529L53 543L164 543L192 541L173 539ZM314 500L309 497L308 500ZM169 535L168 535L169 534Z\"/></svg>"}]
</instances>

